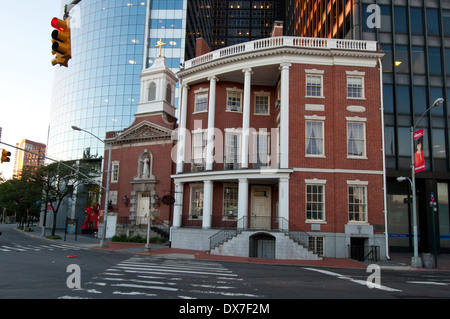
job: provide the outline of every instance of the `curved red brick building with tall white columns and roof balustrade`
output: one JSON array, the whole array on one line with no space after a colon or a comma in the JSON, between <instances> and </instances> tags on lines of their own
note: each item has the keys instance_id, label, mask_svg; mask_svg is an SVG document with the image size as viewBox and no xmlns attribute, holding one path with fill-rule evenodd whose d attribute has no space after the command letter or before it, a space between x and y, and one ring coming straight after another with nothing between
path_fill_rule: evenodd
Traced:
<instances>
[{"instance_id":1,"label":"curved red brick building with tall white columns and roof balustrade","mask_svg":"<svg viewBox=\"0 0 450 319\"><path fill-rule=\"evenodd\" d=\"M382 57L371 41L273 37L186 61L172 247L385 256Z\"/></svg>"}]
</instances>

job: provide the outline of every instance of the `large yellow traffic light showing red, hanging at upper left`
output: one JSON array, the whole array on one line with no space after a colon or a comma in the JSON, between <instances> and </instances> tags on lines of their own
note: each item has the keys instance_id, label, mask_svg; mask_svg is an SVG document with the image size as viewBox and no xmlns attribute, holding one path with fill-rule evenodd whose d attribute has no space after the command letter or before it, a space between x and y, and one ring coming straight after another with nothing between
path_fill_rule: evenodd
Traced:
<instances>
[{"instance_id":1,"label":"large yellow traffic light showing red, hanging at upper left","mask_svg":"<svg viewBox=\"0 0 450 319\"><path fill-rule=\"evenodd\" d=\"M69 19L53 18L51 25L55 28L52 32L52 54L56 55L52 60L52 65L59 64L68 67L68 62L72 58Z\"/></svg>"}]
</instances>

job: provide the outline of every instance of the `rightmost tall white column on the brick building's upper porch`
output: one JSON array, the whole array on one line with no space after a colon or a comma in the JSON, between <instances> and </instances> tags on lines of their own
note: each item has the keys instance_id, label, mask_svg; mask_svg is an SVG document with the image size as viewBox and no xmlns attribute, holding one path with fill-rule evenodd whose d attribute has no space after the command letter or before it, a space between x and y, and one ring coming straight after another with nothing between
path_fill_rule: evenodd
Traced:
<instances>
[{"instance_id":1,"label":"rightmost tall white column on the brick building's upper porch","mask_svg":"<svg viewBox=\"0 0 450 319\"><path fill-rule=\"evenodd\" d=\"M289 167L289 67L281 63L280 168Z\"/></svg>"}]
</instances>

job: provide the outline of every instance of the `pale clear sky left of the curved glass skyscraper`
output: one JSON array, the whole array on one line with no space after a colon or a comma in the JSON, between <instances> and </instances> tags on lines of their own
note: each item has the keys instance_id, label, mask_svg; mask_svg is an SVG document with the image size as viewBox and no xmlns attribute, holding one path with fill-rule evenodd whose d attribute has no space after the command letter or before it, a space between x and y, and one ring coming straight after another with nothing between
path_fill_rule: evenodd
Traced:
<instances>
[{"instance_id":1,"label":"pale clear sky left of the curved glass skyscraper","mask_svg":"<svg viewBox=\"0 0 450 319\"><path fill-rule=\"evenodd\" d=\"M47 144L53 70L50 21L60 15L60 0L0 1L0 127L1 141L23 139ZM11 162L0 174L12 177Z\"/></svg>"}]
</instances>

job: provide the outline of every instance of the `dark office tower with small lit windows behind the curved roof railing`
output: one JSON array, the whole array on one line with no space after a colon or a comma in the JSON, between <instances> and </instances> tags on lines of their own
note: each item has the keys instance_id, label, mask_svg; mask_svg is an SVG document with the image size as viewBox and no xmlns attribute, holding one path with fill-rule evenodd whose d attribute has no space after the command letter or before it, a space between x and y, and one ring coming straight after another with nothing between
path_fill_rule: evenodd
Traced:
<instances>
[{"instance_id":1,"label":"dark office tower with small lit windows behind the curved roof railing","mask_svg":"<svg viewBox=\"0 0 450 319\"><path fill-rule=\"evenodd\" d=\"M273 22L284 20L284 0L212 1L213 50L270 37Z\"/></svg>"}]
</instances>

